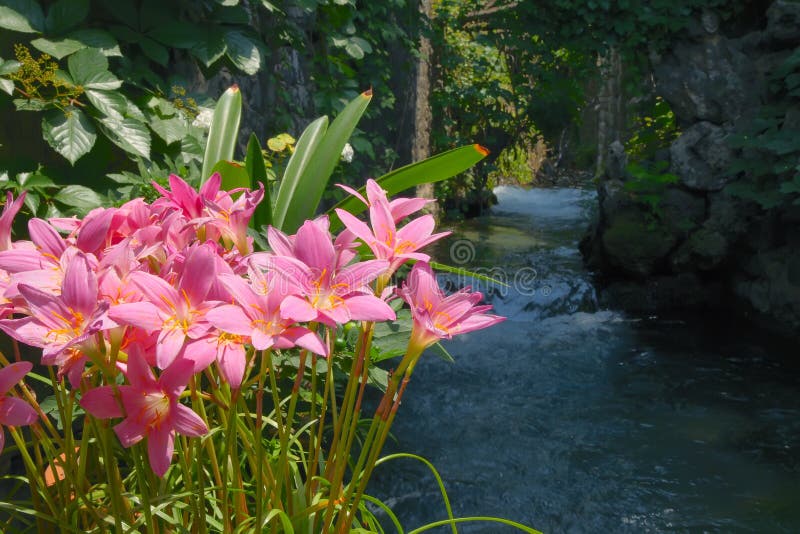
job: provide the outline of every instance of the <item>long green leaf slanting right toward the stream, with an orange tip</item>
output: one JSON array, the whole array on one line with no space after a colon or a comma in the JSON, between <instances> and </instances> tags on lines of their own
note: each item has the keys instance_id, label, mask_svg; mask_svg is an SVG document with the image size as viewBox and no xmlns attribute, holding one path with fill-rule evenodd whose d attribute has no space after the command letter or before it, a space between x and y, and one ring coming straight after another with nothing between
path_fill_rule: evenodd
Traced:
<instances>
[{"instance_id":1,"label":"long green leaf slanting right toward the stream, with an orange tip","mask_svg":"<svg viewBox=\"0 0 800 534\"><path fill-rule=\"evenodd\" d=\"M377 179L377 182L389 196L396 195L419 184L440 182L451 178L469 169L488 154L489 151L480 145L454 148L384 174ZM362 187L360 192L362 195L366 195L366 187ZM331 229L334 231L341 228L341 222L334 211L336 208L357 215L367 209L367 206L354 197L347 197L336 204L328 212L331 217Z\"/></svg>"}]
</instances>

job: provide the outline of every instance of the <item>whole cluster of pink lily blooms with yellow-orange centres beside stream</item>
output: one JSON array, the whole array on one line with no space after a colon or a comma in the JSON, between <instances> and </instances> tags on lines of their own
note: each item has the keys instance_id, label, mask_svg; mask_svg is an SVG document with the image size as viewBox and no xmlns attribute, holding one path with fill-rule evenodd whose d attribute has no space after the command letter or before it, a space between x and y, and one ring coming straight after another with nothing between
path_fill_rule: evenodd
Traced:
<instances>
[{"instance_id":1,"label":"whole cluster of pink lily blooms with yellow-orange centres beside stream","mask_svg":"<svg viewBox=\"0 0 800 534\"><path fill-rule=\"evenodd\" d=\"M160 476L176 433L208 432L179 402L194 374L216 365L236 389L250 347L297 346L328 356L320 336L325 325L395 319L386 303L393 293L376 295L373 282L380 278L378 286L386 286L409 259L417 264L397 294L411 305L412 339L427 346L502 319L485 314L488 306L475 307L479 293L442 295L429 257L419 252L446 235L432 233L430 215L398 229L425 200L390 202L369 181L367 198L359 198L369 206L371 226L339 210L347 229L335 238L323 216L295 235L270 228L271 252L253 252L247 227L263 189L223 191L218 175L199 191L177 176L169 184L158 187L162 197L152 204L135 199L82 220L32 219L30 241L10 236L22 197L9 196L0 216L0 329L41 347L41 363L57 366L59 378L83 392L87 412L121 418L114 430L125 447L147 438ZM360 260L357 240L374 259ZM10 367L0 370L0 393L30 369ZM114 385L117 372L124 385ZM1 416L0 423L33 421L27 411L14 422Z\"/></svg>"}]
</instances>

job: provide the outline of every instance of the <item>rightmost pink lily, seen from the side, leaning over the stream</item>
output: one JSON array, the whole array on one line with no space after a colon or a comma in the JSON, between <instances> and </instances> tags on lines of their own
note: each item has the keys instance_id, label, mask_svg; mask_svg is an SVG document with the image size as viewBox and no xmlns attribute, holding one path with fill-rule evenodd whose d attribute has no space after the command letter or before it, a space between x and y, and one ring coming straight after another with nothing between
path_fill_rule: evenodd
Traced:
<instances>
[{"instance_id":1,"label":"rightmost pink lily, seen from the side, leaning over the stream","mask_svg":"<svg viewBox=\"0 0 800 534\"><path fill-rule=\"evenodd\" d=\"M424 349L440 339L480 330L505 321L505 317L484 313L490 305L476 306L483 295L469 288L445 296L430 265L418 262L411 269L400 297L411 307L414 321L409 345Z\"/></svg>"}]
</instances>

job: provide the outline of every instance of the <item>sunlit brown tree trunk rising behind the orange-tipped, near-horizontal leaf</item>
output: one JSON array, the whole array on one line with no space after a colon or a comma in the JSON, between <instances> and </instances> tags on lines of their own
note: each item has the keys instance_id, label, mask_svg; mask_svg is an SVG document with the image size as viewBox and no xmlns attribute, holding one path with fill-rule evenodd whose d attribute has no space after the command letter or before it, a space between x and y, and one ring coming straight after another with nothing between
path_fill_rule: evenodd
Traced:
<instances>
[{"instance_id":1,"label":"sunlit brown tree trunk rising behind the orange-tipped, near-horizontal leaf","mask_svg":"<svg viewBox=\"0 0 800 534\"><path fill-rule=\"evenodd\" d=\"M421 161L431 155L431 57L433 47L426 32L433 17L431 0L420 0L422 29L419 37L419 59L417 60L416 88L414 91L414 144L411 147L411 160ZM417 186L417 196L435 198L433 184ZM438 212L436 204L428 205L428 212Z\"/></svg>"}]
</instances>

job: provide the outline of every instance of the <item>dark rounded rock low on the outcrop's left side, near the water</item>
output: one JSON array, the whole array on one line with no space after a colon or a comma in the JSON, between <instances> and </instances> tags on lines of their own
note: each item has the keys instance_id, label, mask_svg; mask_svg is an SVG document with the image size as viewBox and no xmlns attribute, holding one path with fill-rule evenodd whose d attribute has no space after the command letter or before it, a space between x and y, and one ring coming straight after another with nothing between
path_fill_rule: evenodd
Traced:
<instances>
[{"instance_id":1,"label":"dark rounded rock low on the outcrop's left side, near the water","mask_svg":"<svg viewBox=\"0 0 800 534\"><path fill-rule=\"evenodd\" d=\"M653 274L677 237L651 223L652 215L638 208L615 213L601 237L606 261L629 275Z\"/></svg>"}]
</instances>

